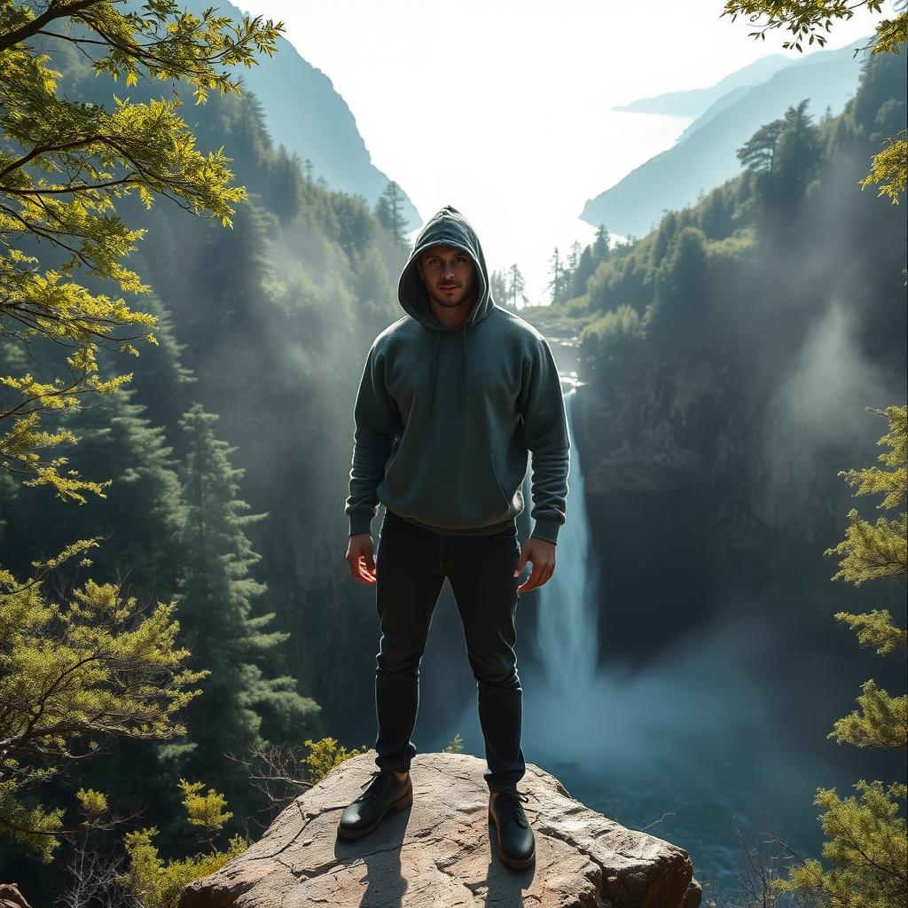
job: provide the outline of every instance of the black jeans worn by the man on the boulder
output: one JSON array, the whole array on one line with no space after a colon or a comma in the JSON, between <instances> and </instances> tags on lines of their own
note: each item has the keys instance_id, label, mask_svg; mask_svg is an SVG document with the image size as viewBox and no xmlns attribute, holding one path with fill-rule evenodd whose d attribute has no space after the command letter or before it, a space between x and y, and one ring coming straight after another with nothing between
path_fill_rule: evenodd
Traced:
<instances>
[{"instance_id":1,"label":"black jeans worn by the man on the boulder","mask_svg":"<svg viewBox=\"0 0 908 908\"><path fill-rule=\"evenodd\" d=\"M447 536L385 511L376 552L376 607L381 626L376 656L376 764L402 773L416 747L410 735L419 709L419 663L445 577L463 622L478 687L479 724L491 787L512 785L526 772L520 732L523 690L514 644L520 556L517 523L491 536Z\"/></svg>"}]
</instances>

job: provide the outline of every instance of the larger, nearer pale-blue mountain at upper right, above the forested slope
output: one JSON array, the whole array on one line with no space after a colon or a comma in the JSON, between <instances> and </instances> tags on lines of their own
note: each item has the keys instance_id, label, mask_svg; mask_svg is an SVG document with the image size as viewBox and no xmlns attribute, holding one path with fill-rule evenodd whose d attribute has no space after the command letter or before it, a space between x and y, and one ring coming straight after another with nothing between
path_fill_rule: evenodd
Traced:
<instances>
[{"instance_id":1,"label":"larger, nearer pale-blue mountain at upper right, above the forested slope","mask_svg":"<svg viewBox=\"0 0 908 908\"><path fill-rule=\"evenodd\" d=\"M736 149L762 125L784 116L789 106L810 98L814 116L823 114L827 105L834 115L840 114L860 74L854 49L868 40L811 54L763 83L738 85L691 123L672 148L587 200L581 219L604 223L609 231L625 236L646 234L665 209L684 208L696 202L699 192L739 173Z\"/></svg>"}]
</instances>

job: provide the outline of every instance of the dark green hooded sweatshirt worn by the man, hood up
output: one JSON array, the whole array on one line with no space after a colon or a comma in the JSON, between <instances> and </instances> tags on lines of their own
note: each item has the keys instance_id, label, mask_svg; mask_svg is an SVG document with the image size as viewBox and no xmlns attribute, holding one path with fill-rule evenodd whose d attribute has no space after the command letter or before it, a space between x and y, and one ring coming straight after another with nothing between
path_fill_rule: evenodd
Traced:
<instances>
[{"instance_id":1,"label":"dark green hooded sweatshirt worn by the man, hood up","mask_svg":"<svg viewBox=\"0 0 908 908\"><path fill-rule=\"evenodd\" d=\"M477 299L442 325L419 255L454 246L476 264ZM379 503L421 528L482 536L514 525L532 452L531 536L557 543L568 497L569 443L548 341L492 299L476 232L446 205L425 225L400 274L407 313L372 342L354 408L350 535L369 533Z\"/></svg>"}]
</instances>

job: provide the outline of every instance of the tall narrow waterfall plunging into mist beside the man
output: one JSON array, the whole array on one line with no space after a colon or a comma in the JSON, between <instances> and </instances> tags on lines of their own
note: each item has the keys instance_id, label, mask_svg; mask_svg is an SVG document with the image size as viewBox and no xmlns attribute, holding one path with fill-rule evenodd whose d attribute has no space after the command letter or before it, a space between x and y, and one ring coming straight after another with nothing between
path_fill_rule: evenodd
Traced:
<instances>
[{"instance_id":1,"label":"tall narrow waterfall plunging into mist beside the man","mask_svg":"<svg viewBox=\"0 0 908 908\"><path fill-rule=\"evenodd\" d=\"M568 502L558 531L555 573L538 589L538 627L532 645L545 666L550 692L568 703L588 696L597 666L598 558L589 550L589 521L583 471L574 440L573 404L577 389L565 394L570 441ZM530 500L529 494L525 495ZM574 696L572 696L574 695Z\"/></svg>"}]
</instances>

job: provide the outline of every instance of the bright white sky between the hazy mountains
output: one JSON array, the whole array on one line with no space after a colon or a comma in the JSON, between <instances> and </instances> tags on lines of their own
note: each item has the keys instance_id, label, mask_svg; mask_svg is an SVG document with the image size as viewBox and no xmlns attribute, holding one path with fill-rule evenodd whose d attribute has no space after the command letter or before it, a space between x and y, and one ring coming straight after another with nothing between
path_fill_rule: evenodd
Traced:
<instances>
[{"instance_id":1,"label":"bright white sky between the hazy mountains","mask_svg":"<svg viewBox=\"0 0 908 908\"><path fill-rule=\"evenodd\" d=\"M611 107L708 87L767 54L800 55L782 48L791 38L782 29L748 37L755 26L722 16L724 0L238 6L282 21L350 107L372 162L423 218L459 208L489 269L516 262L533 301L546 299L553 247L591 240L578 219L587 198L670 147L689 122ZM834 23L826 48L872 35L880 18L862 7Z\"/></svg>"}]
</instances>

